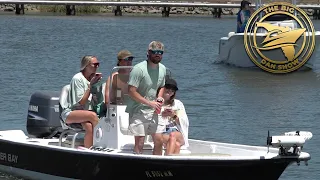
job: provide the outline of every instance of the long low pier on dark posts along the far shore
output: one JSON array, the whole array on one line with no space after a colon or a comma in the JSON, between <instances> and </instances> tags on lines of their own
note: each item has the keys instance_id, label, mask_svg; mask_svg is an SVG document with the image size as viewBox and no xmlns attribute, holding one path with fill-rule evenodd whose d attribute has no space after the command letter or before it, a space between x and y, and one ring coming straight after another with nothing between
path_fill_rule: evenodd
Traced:
<instances>
[{"instance_id":1,"label":"long low pier on dark posts along the far shore","mask_svg":"<svg viewBox=\"0 0 320 180\"><path fill-rule=\"evenodd\" d=\"M252 5L261 3L260 2L253 3ZM293 3L296 3L293 0ZM67 15L75 15L75 6L115 6L114 10L115 16L121 16L121 7L124 6L151 6L151 7L162 7L162 16L169 17L170 7L207 7L213 8L213 13L218 13L221 15L222 8L239 8L239 3L202 3L202 2L159 2L159 1L64 1L64 0L0 0L0 4L14 4L16 6L15 13L16 14L24 14L24 5L25 4L33 4L33 5L64 5L66 7ZM297 7L302 9L313 9L319 12L320 5L316 4L297 4ZM219 15L219 16L220 16Z\"/></svg>"}]
</instances>

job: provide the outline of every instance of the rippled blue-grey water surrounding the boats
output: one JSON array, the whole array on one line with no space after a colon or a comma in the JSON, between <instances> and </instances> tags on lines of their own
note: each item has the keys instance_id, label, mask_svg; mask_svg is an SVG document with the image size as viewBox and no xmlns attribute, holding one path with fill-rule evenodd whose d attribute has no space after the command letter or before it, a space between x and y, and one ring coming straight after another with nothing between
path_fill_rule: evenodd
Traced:
<instances>
[{"instance_id":1,"label":"rippled blue-grey water surrounding the boats","mask_svg":"<svg viewBox=\"0 0 320 180\"><path fill-rule=\"evenodd\" d=\"M319 21L314 25L320 30ZM0 130L25 130L31 94L59 91L82 56L96 55L106 77L118 51L130 50L137 63L146 58L147 45L160 40L162 62L173 71L189 115L190 138L265 145L268 130L312 131L304 149L312 156L309 166L294 164L280 180L318 179L317 71L279 76L215 63L220 37L235 27L230 17L0 15Z\"/></svg>"}]
</instances>

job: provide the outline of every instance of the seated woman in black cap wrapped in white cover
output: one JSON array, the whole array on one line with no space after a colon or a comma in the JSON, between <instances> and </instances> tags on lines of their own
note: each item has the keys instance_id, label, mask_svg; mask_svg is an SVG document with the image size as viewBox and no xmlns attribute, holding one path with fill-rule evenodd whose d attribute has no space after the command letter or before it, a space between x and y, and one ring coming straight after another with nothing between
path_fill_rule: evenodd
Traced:
<instances>
[{"instance_id":1,"label":"seated woman in black cap wrapped in white cover","mask_svg":"<svg viewBox=\"0 0 320 180\"><path fill-rule=\"evenodd\" d=\"M163 94L164 103L159 115L159 121L165 121L166 124L166 131L162 134L166 147L165 155L179 154L181 146L189 146L189 120L183 103L175 98L177 90L177 82L167 78Z\"/></svg>"}]
</instances>

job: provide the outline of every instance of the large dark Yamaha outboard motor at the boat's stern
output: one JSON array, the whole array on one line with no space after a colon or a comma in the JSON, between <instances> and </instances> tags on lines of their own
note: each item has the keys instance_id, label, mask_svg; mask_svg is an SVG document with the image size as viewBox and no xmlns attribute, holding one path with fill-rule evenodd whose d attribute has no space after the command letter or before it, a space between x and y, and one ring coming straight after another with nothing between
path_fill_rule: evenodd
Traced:
<instances>
[{"instance_id":1,"label":"large dark Yamaha outboard motor at the boat's stern","mask_svg":"<svg viewBox=\"0 0 320 180\"><path fill-rule=\"evenodd\" d=\"M27 117L27 131L37 138L51 138L62 131L59 113L59 92L32 94Z\"/></svg>"}]
</instances>

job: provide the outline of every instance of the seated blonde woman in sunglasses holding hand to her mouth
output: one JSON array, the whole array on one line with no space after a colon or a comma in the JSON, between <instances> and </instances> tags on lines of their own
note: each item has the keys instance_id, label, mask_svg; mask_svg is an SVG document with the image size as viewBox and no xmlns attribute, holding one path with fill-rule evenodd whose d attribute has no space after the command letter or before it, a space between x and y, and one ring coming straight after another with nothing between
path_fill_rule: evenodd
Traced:
<instances>
[{"instance_id":1,"label":"seated blonde woman in sunglasses holding hand to her mouth","mask_svg":"<svg viewBox=\"0 0 320 180\"><path fill-rule=\"evenodd\" d=\"M97 89L101 89L98 82L102 78L102 74L97 73L99 65L95 56L84 56L80 72L71 79L67 100L60 104L62 120L68 125L81 124L80 126L86 131L84 136L86 148L90 148L93 144L93 129L99 121L95 106L98 101L103 102L102 92L97 93Z\"/></svg>"}]
</instances>

